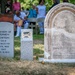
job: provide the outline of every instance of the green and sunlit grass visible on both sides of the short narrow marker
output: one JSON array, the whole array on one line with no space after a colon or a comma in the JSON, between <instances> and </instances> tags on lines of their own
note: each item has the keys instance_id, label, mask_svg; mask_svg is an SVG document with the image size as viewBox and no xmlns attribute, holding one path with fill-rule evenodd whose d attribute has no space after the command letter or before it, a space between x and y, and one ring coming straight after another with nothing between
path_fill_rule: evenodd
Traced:
<instances>
[{"instance_id":1,"label":"green and sunlit grass visible on both sides of the short narrow marker","mask_svg":"<svg viewBox=\"0 0 75 75\"><path fill-rule=\"evenodd\" d=\"M14 38L14 52L15 60L20 60L20 47L21 47L21 38L20 37L15 37ZM28 46L29 47L29 46ZM33 35L33 55L37 56L39 54L44 53L44 35Z\"/></svg>"}]
</instances>

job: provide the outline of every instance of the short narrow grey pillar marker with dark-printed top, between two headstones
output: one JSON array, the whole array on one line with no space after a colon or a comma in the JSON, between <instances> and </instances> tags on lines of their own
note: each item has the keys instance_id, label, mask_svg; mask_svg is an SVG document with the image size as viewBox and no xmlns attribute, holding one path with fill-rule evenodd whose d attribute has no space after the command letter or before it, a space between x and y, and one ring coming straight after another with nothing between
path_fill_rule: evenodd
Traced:
<instances>
[{"instance_id":1,"label":"short narrow grey pillar marker with dark-printed top, between two headstones","mask_svg":"<svg viewBox=\"0 0 75 75\"><path fill-rule=\"evenodd\" d=\"M21 30L21 59L33 60L33 33L32 29Z\"/></svg>"}]
</instances>

